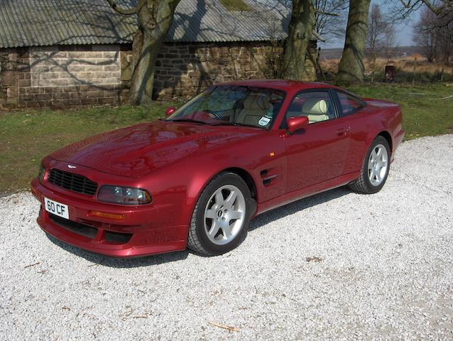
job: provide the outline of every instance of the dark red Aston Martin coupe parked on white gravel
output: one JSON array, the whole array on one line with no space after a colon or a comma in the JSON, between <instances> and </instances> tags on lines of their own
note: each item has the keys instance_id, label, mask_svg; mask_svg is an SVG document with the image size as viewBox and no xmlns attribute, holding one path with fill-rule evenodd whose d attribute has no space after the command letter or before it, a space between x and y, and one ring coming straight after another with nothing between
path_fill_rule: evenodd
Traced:
<instances>
[{"instance_id":1,"label":"dark red Aston Martin coupe parked on white gravel","mask_svg":"<svg viewBox=\"0 0 453 341\"><path fill-rule=\"evenodd\" d=\"M260 213L348 185L376 193L403 140L397 104L316 82L214 85L165 119L46 156L38 224L116 257L237 247Z\"/></svg>"}]
</instances>

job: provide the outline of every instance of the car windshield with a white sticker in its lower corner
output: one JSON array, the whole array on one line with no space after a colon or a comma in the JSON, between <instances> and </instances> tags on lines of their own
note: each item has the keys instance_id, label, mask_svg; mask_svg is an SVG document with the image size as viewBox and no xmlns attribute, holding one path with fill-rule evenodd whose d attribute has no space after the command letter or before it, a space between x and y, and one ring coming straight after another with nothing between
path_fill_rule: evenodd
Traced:
<instances>
[{"instance_id":1,"label":"car windshield with a white sticker in its lower corner","mask_svg":"<svg viewBox=\"0 0 453 341\"><path fill-rule=\"evenodd\" d=\"M280 90L219 85L194 97L166 120L269 129L284 98Z\"/></svg>"}]
</instances>

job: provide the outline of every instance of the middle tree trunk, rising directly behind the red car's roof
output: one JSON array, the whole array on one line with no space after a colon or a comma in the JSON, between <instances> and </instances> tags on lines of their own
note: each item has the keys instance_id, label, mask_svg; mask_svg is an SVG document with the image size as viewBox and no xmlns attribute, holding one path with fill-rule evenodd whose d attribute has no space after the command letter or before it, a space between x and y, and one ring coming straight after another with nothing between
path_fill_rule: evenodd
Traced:
<instances>
[{"instance_id":1,"label":"middle tree trunk, rising directly behind the red car's roof","mask_svg":"<svg viewBox=\"0 0 453 341\"><path fill-rule=\"evenodd\" d=\"M288 38L283 49L283 78L302 80L314 26L315 9L312 0L293 0Z\"/></svg>"}]
</instances>

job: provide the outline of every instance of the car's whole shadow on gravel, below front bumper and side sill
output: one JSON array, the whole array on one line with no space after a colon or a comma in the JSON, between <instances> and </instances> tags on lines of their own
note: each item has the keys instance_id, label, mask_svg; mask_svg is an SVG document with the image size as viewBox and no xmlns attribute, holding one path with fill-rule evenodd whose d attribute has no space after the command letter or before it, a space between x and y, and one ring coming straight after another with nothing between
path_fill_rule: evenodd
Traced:
<instances>
[{"instance_id":1,"label":"car's whole shadow on gravel, below front bumper and side sill","mask_svg":"<svg viewBox=\"0 0 453 341\"><path fill-rule=\"evenodd\" d=\"M250 222L249 231L253 229L258 229L266 224L269 224L275 220L279 220L287 215L292 215L301 210L305 210L308 207L320 205L323 202L337 199L343 195L351 193L346 187L335 188L334 190L328 190L327 192L320 193L317 195L312 195L311 197L306 197L304 199L298 200L296 202L291 202L288 205L275 208L269 212L258 215L255 219ZM154 256L146 256L133 259L120 259L113 258L109 256L102 256L100 254L94 254L93 252L86 251L84 249L78 249L77 247L72 247L70 244L61 242L60 240L52 237L50 234L47 234L48 239L53 244L58 245L62 249L75 254L75 256L82 257L91 261L93 264L90 266L109 266L111 268L137 268L140 266L152 266L156 264L169 263L172 261L182 261L187 258L190 254L190 251L177 251L169 254L157 254ZM203 257L203 255L197 254L197 256Z\"/></svg>"}]
</instances>

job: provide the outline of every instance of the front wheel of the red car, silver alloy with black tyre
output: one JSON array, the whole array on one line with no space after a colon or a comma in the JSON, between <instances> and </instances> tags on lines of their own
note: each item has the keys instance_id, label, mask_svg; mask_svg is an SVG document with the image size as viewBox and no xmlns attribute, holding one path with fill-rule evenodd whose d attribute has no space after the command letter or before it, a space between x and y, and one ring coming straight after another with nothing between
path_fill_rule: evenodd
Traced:
<instances>
[{"instance_id":1,"label":"front wheel of the red car, silver alloy with black tyre","mask_svg":"<svg viewBox=\"0 0 453 341\"><path fill-rule=\"evenodd\" d=\"M236 173L220 173L200 195L190 222L187 247L209 256L224 254L245 239L251 194Z\"/></svg>"}]
</instances>

